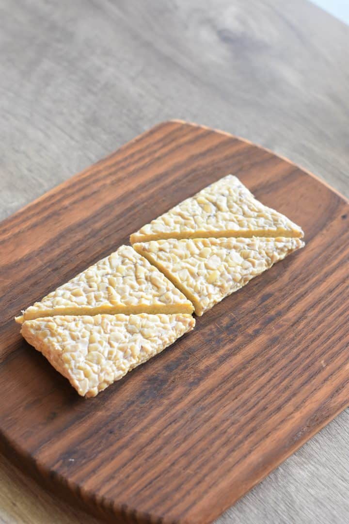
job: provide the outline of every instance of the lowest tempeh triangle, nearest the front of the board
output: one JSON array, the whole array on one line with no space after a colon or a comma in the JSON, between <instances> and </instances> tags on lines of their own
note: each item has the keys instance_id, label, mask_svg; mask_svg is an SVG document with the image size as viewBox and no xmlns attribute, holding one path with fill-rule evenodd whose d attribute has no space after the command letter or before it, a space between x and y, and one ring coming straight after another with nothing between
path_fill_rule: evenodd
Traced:
<instances>
[{"instance_id":1,"label":"lowest tempeh triangle, nearest the front of the board","mask_svg":"<svg viewBox=\"0 0 349 524\"><path fill-rule=\"evenodd\" d=\"M189 314L53 316L25 322L21 334L79 395L94 397L194 325Z\"/></svg>"}]
</instances>

